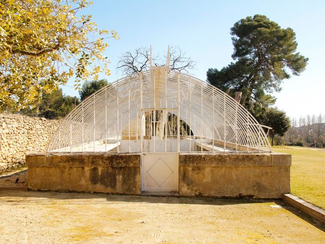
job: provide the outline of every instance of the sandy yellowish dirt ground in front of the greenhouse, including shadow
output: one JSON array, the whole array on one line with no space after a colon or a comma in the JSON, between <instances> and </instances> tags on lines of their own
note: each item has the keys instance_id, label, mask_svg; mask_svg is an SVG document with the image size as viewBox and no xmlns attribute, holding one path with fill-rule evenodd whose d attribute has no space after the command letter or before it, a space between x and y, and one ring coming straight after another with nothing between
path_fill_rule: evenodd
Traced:
<instances>
[{"instance_id":1,"label":"sandy yellowish dirt ground in front of the greenhouse, including shadow","mask_svg":"<svg viewBox=\"0 0 325 244\"><path fill-rule=\"evenodd\" d=\"M282 201L0 191L1 243L305 244L324 230Z\"/></svg>"}]
</instances>

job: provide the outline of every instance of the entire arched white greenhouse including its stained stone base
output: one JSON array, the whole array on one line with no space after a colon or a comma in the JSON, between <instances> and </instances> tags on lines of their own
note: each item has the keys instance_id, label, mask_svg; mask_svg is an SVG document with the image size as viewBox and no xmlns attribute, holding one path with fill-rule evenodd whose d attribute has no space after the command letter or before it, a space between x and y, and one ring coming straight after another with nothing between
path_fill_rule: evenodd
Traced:
<instances>
[{"instance_id":1,"label":"entire arched white greenhouse including its stained stone base","mask_svg":"<svg viewBox=\"0 0 325 244\"><path fill-rule=\"evenodd\" d=\"M279 197L290 188L291 159L271 152L269 129L167 62L108 84L72 110L47 152L26 156L29 187Z\"/></svg>"}]
</instances>

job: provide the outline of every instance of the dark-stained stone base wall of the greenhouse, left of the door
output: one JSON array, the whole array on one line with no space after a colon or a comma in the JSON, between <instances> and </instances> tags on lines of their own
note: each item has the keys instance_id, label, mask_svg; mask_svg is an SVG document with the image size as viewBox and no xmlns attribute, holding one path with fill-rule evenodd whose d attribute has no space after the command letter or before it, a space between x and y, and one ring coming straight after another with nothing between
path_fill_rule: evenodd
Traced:
<instances>
[{"instance_id":1,"label":"dark-stained stone base wall of the greenhouse, left of the door","mask_svg":"<svg viewBox=\"0 0 325 244\"><path fill-rule=\"evenodd\" d=\"M30 154L28 189L141 194L141 154Z\"/></svg>"}]
</instances>

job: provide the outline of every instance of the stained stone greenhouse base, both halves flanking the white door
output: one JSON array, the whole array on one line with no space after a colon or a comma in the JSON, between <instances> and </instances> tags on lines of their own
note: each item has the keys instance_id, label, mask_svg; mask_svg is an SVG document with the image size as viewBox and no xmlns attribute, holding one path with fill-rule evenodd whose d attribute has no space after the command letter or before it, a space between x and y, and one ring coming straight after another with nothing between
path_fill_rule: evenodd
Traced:
<instances>
[{"instance_id":1,"label":"stained stone greenhouse base, both halves flanking the white door","mask_svg":"<svg viewBox=\"0 0 325 244\"><path fill-rule=\"evenodd\" d=\"M28 189L141 194L141 154L30 154ZM281 198L291 155L179 154L179 195Z\"/></svg>"}]
</instances>

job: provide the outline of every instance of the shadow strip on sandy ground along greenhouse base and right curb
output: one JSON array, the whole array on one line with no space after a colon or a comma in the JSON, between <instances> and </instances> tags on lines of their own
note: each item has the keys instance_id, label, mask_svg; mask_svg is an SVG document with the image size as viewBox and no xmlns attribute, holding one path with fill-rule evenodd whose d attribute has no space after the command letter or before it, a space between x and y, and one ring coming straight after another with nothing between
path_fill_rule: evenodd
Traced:
<instances>
[{"instance_id":1,"label":"shadow strip on sandy ground along greenhouse base and right curb","mask_svg":"<svg viewBox=\"0 0 325 244\"><path fill-rule=\"evenodd\" d=\"M73 201L82 199L82 201ZM76 192L37 192L37 191L0 191L1 205L48 205L54 202L59 204L107 204L113 203L152 203L152 204L200 204L200 205L240 205L254 203L270 203L281 205L297 217L310 223L316 228L325 231L321 223L301 210L285 203L282 199L252 199L252 198L213 198L213 197L170 197L170 196L133 196L103 193L76 193ZM240 206L239 206L240 207Z\"/></svg>"}]
</instances>

